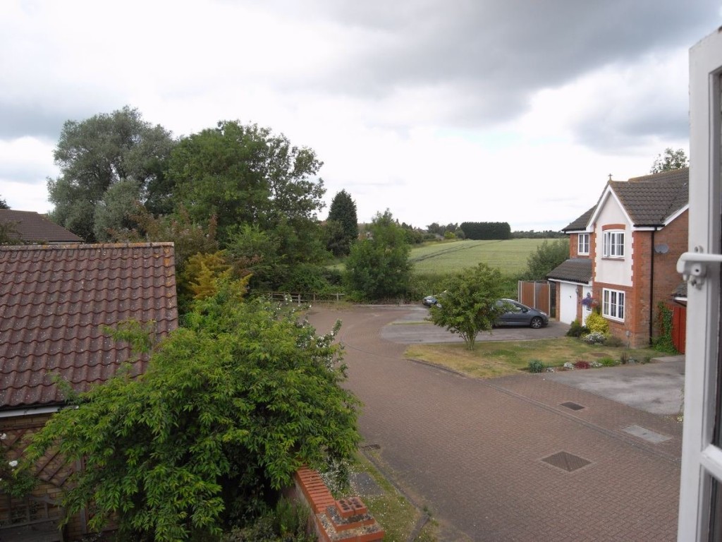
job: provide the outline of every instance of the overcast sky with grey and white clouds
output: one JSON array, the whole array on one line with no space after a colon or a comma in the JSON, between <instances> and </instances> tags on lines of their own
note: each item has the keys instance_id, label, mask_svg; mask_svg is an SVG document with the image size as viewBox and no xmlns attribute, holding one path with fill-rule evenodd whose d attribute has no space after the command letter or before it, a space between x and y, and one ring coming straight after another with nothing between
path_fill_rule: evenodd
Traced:
<instances>
[{"instance_id":1,"label":"overcast sky with grey and white clouds","mask_svg":"<svg viewBox=\"0 0 722 542\"><path fill-rule=\"evenodd\" d=\"M361 222L557 230L609 173L689 150L688 50L721 6L2 0L0 198L51 210L63 122L128 105L175 136L235 119L284 133Z\"/></svg>"}]
</instances>

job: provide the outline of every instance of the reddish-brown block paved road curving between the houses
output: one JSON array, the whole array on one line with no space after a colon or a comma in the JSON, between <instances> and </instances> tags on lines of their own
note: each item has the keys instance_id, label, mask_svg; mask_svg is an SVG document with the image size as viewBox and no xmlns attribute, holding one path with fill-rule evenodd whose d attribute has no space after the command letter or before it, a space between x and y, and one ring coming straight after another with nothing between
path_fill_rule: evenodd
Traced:
<instances>
[{"instance_id":1,"label":"reddish-brown block paved road curving between the houses","mask_svg":"<svg viewBox=\"0 0 722 542\"><path fill-rule=\"evenodd\" d=\"M384 328L417 310L314 307L309 319L319 332L344 322L364 444L444 540L675 539L679 423L544 374L479 380L405 360Z\"/></svg>"}]
</instances>

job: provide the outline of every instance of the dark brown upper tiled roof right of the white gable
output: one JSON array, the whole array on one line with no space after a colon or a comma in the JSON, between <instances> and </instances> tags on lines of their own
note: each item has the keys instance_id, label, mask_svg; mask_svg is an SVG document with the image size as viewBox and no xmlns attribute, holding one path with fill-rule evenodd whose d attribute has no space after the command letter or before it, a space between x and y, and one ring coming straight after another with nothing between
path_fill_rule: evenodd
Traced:
<instances>
[{"instance_id":1,"label":"dark brown upper tiled roof right of the white gable","mask_svg":"<svg viewBox=\"0 0 722 542\"><path fill-rule=\"evenodd\" d=\"M609 181L619 202L635 226L666 225L690 202L690 168L663 171L653 175Z\"/></svg>"}]
</instances>

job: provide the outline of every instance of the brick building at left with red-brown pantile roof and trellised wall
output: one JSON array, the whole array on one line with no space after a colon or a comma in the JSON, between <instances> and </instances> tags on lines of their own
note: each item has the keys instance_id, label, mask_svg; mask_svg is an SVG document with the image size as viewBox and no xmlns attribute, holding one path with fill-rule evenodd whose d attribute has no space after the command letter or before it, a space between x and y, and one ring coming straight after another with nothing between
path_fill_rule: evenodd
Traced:
<instances>
[{"instance_id":1,"label":"brick building at left with red-brown pantile roof and trellised wall","mask_svg":"<svg viewBox=\"0 0 722 542\"><path fill-rule=\"evenodd\" d=\"M64 408L56 377L82 392L125 361L131 374L144 371L147 356L131 358L129 345L103 332L126 319L154 322L157 338L178 326L172 243L0 246L0 447L7 460ZM59 539L56 499L82 465L68 468L49 452L36 468L40 483L30 499L0 493L1 540ZM85 533L86 521L71 518L69 537ZM28 530L31 538L22 538Z\"/></svg>"}]
</instances>

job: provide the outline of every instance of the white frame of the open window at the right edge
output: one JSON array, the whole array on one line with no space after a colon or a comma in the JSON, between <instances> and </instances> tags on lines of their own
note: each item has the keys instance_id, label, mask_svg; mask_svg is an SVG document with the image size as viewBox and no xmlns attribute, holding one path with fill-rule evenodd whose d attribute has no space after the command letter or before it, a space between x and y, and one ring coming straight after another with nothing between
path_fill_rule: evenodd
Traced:
<instances>
[{"instance_id":1,"label":"white frame of the open window at the right edge","mask_svg":"<svg viewBox=\"0 0 722 542\"><path fill-rule=\"evenodd\" d=\"M722 171L722 33L690 49L690 254L719 254ZM720 264L687 287L684 433L679 541L708 541L713 478L722 481L722 448L713 444L720 335ZM716 522L722 518L715 517Z\"/></svg>"}]
</instances>

